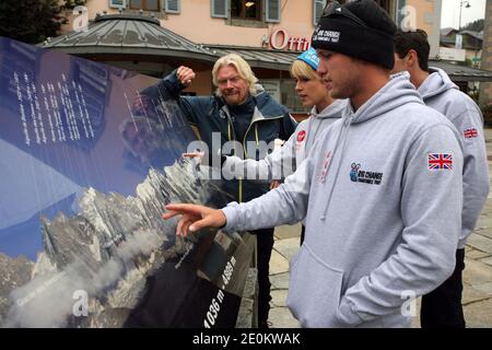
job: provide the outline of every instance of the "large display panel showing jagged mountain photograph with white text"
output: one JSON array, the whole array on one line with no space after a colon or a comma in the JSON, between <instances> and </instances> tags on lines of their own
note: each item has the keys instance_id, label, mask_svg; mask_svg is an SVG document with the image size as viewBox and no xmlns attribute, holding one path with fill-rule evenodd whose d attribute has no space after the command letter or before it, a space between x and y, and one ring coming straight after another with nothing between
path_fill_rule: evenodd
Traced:
<instances>
[{"instance_id":1,"label":"large display panel showing jagged mountain photograph with white text","mask_svg":"<svg viewBox=\"0 0 492 350\"><path fill-rule=\"evenodd\" d=\"M156 82L0 38L0 327L234 327L255 241L162 219L229 195Z\"/></svg>"}]
</instances>

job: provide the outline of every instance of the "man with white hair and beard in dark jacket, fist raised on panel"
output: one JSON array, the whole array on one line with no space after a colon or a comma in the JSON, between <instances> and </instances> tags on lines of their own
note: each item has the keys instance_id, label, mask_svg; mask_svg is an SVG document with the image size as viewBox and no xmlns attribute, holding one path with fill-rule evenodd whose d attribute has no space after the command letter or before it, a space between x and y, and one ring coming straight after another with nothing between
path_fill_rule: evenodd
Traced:
<instances>
[{"instance_id":1,"label":"man with white hair and beard in dark jacket, fist raised on panel","mask_svg":"<svg viewBox=\"0 0 492 350\"><path fill-rule=\"evenodd\" d=\"M175 98L199 137L209 150L209 162L220 150L212 137L220 136L220 147L227 141L236 141L232 154L260 160L261 152L247 152L248 147L273 144L276 139L288 140L294 132L296 122L288 109L278 104L257 83L250 66L238 55L230 54L221 57L212 70L212 79L218 88L211 96L181 96L180 92L188 88L196 78L192 69L179 67L163 79L157 89L165 90ZM144 94L152 94L149 88ZM236 147L237 145L237 147ZM227 154L230 155L230 154ZM224 158L222 158L223 160ZM213 162L209 164L212 165ZM219 164L221 164L219 162ZM223 188L237 202L249 201L269 190L268 182L233 178L223 182ZM251 231L257 236L258 249L258 325L268 326L270 310L269 261L273 247L273 228Z\"/></svg>"}]
</instances>

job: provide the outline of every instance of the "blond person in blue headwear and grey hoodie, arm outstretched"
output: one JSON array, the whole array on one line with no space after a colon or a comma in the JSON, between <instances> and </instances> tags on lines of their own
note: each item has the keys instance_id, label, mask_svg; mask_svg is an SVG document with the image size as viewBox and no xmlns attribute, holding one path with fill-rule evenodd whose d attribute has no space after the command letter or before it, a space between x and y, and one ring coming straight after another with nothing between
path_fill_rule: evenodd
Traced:
<instances>
[{"instance_id":1,"label":"blond person in blue headwear and grey hoodie, arm outstretched","mask_svg":"<svg viewBox=\"0 0 492 350\"><path fill-rule=\"evenodd\" d=\"M223 155L222 172L224 176L236 176L248 178L253 174L255 178L272 180L271 188L280 185L278 179L284 179L294 173L309 149L313 147L317 136L329 125L341 118L342 110L347 105L345 100L333 100L325 88L316 70L319 58L316 50L309 48L291 65L291 75L296 80L295 91L305 107L313 107L307 119L301 121L285 143L265 159L256 161L241 159L236 155ZM200 152L185 153L189 158L202 158ZM302 226L301 244L304 242L305 225Z\"/></svg>"}]
</instances>

